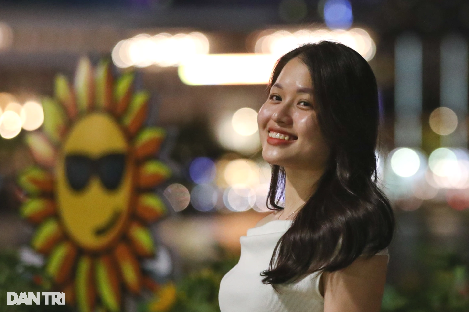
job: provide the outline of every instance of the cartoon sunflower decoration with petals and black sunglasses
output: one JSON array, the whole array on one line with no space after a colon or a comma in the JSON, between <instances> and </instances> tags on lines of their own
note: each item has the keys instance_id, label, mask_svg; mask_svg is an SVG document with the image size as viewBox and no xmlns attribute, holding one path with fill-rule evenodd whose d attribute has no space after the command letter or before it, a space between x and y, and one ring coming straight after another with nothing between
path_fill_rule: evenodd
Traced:
<instances>
[{"instance_id":1,"label":"cartoon sunflower decoration with petals and black sunglasses","mask_svg":"<svg viewBox=\"0 0 469 312\"><path fill-rule=\"evenodd\" d=\"M121 311L125 290L159 289L140 260L155 254L147 225L167 210L153 189L171 171L154 159L165 131L144 126L148 101L133 73L114 81L108 61L83 58L73 86L56 77L42 131L26 137L37 165L18 178L21 214L38 224L31 245L46 272L82 312Z\"/></svg>"}]
</instances>

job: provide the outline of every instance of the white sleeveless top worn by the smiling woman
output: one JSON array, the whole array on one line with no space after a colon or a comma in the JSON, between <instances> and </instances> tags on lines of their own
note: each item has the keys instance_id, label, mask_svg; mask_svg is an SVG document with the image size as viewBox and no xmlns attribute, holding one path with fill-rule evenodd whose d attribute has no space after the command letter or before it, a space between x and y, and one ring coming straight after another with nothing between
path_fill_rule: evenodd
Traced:
<instances>
[{"instance_id":1,"label":"white sleeveless top worn by the smiling woman","mask_svg":"<svg viewBox=\"0 0 469 312\"><path fill-rule=\"evenodd\" d=\"M297 283L263 284L259 273L269 268L273 249L292 220L273 220L253 227L241 236L238 263L223 276L218 300L221 312L323 312L324 297L319 292L321 273L314 272ZM389 253L387 248L378 254Z\"/></svg>"}]
</instances>

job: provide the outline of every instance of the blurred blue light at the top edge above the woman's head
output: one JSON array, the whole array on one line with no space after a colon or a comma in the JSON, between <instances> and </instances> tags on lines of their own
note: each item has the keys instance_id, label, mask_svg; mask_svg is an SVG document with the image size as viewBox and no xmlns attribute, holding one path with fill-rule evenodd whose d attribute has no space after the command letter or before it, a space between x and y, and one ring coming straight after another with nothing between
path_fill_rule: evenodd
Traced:
<instances>
[{"instance_id":1,"label":"blurred blue light at the top edge above the woman's head","mask_svg":"<svg viewBox=\"0 0 469 312\"><path fill-rule=\"evenodd\" d=\"M330 29L348 29L353 22L352 5L348 0L328 0L324 4L324 21Z\"/></svg>"}]
</instances>

